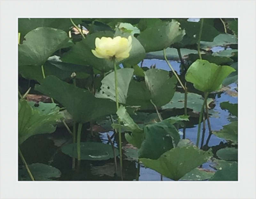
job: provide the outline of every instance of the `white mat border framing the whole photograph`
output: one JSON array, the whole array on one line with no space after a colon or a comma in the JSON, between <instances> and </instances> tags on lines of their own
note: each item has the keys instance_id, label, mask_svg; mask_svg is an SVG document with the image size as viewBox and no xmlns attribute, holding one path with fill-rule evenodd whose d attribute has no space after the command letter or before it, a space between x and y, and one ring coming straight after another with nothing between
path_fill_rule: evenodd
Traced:
<instances>
[{"instance_id":1,"label":"white mat border framing the whole photograph","mask_svg":"<svg viewBox=\"0 0 256 199\"><path fill-rule=\"evenodd\" d=\"M18 18L238 18L239 180L18 181ZM0 199L255 199L255 0L0 0Z\"/></svg>"}]
</instances>

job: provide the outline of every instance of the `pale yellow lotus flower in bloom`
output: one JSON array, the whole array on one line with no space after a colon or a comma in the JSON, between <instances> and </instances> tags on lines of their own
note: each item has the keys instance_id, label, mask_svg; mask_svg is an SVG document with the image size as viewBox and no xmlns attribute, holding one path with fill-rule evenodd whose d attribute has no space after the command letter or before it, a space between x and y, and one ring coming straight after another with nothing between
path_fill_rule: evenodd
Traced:
<instances>
[{"instance_id":1,"label":"pale yellow lotus flower in bloom","mask_svg":"<svg viewBox=\"0 0 256 199\"><path fill-rule=\"evenodd\" d=\"M132 49L132 37L97 37L95 39L95 50L92 50L93 55L98 58L112 59L121 61L130 56L129 52Z\"/></svg>"}]
</instances>

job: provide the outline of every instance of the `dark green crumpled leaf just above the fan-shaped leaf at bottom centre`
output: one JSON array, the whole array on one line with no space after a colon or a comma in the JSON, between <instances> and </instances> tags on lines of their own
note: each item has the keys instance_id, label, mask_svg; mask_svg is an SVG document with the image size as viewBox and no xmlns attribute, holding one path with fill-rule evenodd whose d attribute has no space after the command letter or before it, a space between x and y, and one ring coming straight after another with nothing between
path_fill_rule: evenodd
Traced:
<instances>
[{"instance_id":1,"label":"dark green crumpled leaf just above the fan-shaped leaf at bottom centre","mask_svg":"<svg viewBox=\"0 0 256 199\"><path fill-rule=\"evenodd\" d=\"M157 159L180 141L178 130L168 120L149 124L143 130L145 140L139 150L140 158Z\"/></svg>"}]
</instances>

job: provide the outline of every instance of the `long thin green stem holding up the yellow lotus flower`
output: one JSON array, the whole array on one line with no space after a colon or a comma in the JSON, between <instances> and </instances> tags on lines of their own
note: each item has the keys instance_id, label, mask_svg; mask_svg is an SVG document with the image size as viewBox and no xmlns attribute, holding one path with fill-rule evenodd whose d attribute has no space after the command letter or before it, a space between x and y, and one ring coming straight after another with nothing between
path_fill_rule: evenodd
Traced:
<instances>
[{"instance_id":1,"label":"long thin green stem holding up the yellow lotus flower","mask_svg":"<svg viewBox=\"0 0 256 199\"><path fill-rule=\"evenodd\" d=\"M115 70L115 91L116 91L116 111L119 108L119 100L118 100L118 89L117 89L117 68L116 68L116 60L113 58L114 62L114 70ZM123 176L123 155L122 155L122 135L121 135L121 123L119 117L117 117L118 120L118 139L119 139L119 153L120 153L120 170L121 170L121 179L124 180Z\"/></svg>"}]
</instances>

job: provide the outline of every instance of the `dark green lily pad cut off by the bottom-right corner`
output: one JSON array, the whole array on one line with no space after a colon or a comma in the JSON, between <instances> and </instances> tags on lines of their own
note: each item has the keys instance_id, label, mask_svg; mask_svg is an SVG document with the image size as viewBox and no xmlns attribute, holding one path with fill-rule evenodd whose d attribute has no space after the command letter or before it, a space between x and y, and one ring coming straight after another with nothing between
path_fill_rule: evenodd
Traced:
<instances>
[{"instance_id":1,"label":"dark green lily pad cut off by the bottom-right corner","mask_svg":"<svg viewBox=\"0 0 256 199\"><path fill-rule=\"evenodd\" d=\"M210 181L238 181L238 164L233 162L219 169Z\"/></svg>"}]
</instances>

